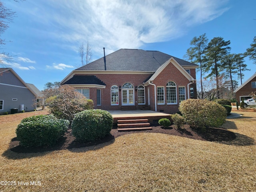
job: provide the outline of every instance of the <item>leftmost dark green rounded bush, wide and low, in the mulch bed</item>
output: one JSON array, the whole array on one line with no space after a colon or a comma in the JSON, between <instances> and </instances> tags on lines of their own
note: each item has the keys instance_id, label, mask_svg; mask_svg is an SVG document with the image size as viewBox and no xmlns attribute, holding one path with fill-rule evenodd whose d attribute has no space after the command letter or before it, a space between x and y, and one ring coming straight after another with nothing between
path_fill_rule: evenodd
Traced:
<instances>
[{"instance_id":1,"label":"leftmost dark green rounded bush, wide and low, in the mulch bed","mask_svg":"<svg viewBox=\"0 0 256 192\"><path fill-rule=\"evenodd\" d=\"M16 129L17 139L25 147L52 146L66 132L68 120L53 115L38 115L24 118Z\"/></svg>"}]
</instances>

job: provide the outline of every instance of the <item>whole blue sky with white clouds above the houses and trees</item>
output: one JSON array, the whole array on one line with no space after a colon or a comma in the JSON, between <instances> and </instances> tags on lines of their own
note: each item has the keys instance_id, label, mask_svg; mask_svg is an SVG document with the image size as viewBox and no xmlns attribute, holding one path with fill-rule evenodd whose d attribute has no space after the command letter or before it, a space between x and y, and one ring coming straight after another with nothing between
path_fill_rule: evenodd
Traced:
<instances>
[{"instance_id":1,"label":"whole blue sky with white clouds above the houses and trees","mask_svg":"<svg viewBox=\"0 0 256 192\"><path fill-rule=\"evenodd\" d=\"M256 36L256 0L5 0L4 4L16 12L2 35L4 51L14 56L5 64L39 90L81 65L82 42L91 44L93 60L103 56L103 47L106 54L135 48L183 58L194 36L223 37L236 54L244 53ZM244 72L243 82L256 72L251 60L246 58L245 63L251 70Z\"/></svg>"}]
</instances>

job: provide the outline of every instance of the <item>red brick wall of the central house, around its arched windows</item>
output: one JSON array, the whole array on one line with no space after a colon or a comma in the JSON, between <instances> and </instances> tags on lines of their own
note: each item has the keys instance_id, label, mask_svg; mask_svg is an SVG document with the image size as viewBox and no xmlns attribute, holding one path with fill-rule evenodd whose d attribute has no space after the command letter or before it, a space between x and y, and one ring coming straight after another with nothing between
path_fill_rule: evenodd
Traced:
<instances>
[{"instance_id":1,"label":"red brick wall of the central house, around its arched windows","mask_svg":"<svg viewBox=\"0 0 256 192\"><path fill-rule=\"evenodd\" d=\"M195 78L195 69L190 70L192 76ZM150 76L150 74L90 74L95 75L97 78L102 80L106 84L106 88L101 89L101 106L97 106L97 89L90 88L90 99L94 101L94 108L103 110L121 110L122 107L122 91L119 91L119 105L111 105L111 86L117 85L122 86L126 82L130 82L135 86L143 85L143 82ZM169 64L160 73L160 75L154 80L156 86L165 87L165 104L157 105L157 111L164 110L165 113L175 113L178 112L179 104L166 104L166 83L168 81L174 81L177 85L177 96L178 96L178 86L185 86L186 98L188 98L187 85L189 80L184 77L184 75L175 67L173 64ZM148 105L148 87L150 88L150 109L155 110L155 94L154 86L145 86L145 100L146 105ZM196 91L196 89L195 89ZM196 93L196 92L195 92ZM137 109L141 109L144 105L138 105L138 91L134 90L134 102Z\"/></svg>"}]
</instances>

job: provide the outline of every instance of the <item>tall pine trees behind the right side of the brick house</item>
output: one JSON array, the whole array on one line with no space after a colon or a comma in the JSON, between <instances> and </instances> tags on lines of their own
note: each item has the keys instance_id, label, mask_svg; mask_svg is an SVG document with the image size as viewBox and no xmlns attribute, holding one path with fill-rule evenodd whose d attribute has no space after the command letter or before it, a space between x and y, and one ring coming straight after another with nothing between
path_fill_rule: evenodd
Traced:
<instances>
[{"instance_id":1,"label":"tall pine trees behind the right side of the brick house","mask_svg":"<svg viewBox=\"0 0 256 192\"><path fill-rule=\"evenodd\" d=\"M244 58L248 56L256 64L256 36L250 48L247 48L244 53L231 53L229 45L230 40L225 41L222 37L214 37L209 41L206 34L195 36L190 41L191 47L187 49L184 58L199 65L198 98L209 100L223 98L225 97L224 88L230 88L231 94L228 97L233 97L233 92L238 86L234 75L238 75L242 84L243 72L250 70L244 63ZM212 86L213 81L215 81L215 88Z\"/></svg>"}]
</instances>

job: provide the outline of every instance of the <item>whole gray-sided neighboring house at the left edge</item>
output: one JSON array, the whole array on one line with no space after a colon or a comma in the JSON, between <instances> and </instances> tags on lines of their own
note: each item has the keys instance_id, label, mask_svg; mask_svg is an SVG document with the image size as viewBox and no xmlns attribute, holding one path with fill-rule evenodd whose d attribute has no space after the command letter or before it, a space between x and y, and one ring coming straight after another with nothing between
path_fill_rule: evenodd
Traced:
<instances>
[{"instance_id":1,"label":"whole gray-sided neighboring house at the left edge","mask_svg":"<svg viewBox=\"0 0 256 192\"><path fill-rule=\"evenodd\" d=\"M41 92L26 84L12 68L0 68L0 114L33 111Z\"/></svg>"}]
</instances>

